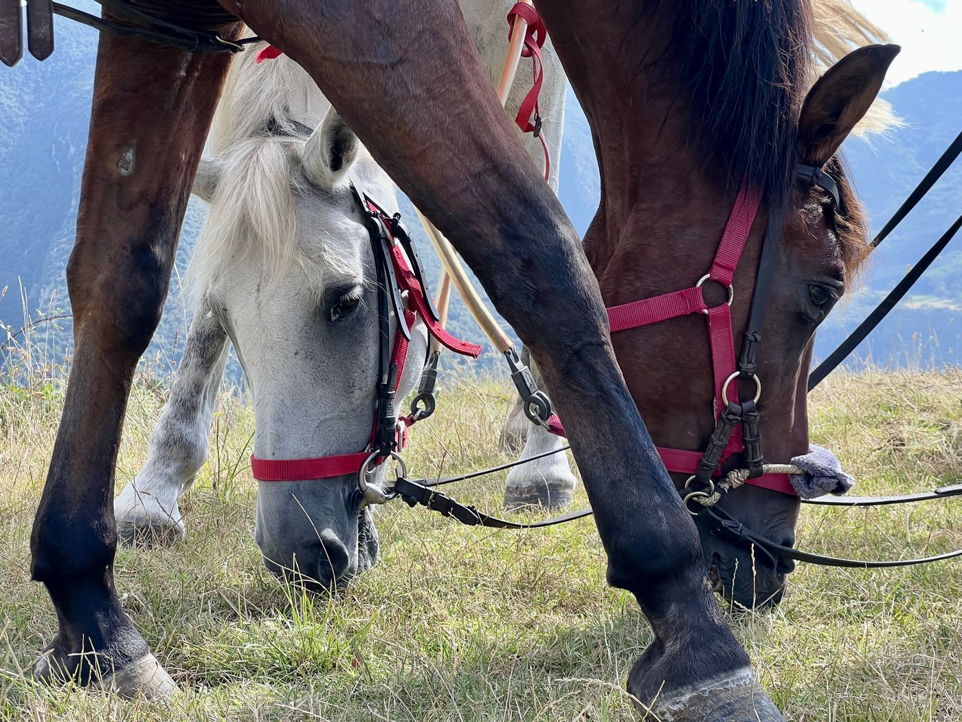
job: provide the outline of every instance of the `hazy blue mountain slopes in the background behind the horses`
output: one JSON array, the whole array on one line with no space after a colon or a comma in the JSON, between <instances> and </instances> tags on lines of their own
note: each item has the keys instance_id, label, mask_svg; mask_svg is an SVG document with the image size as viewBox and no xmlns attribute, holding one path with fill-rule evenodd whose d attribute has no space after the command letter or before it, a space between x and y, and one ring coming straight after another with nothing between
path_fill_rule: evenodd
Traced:
<instances>
[{"instance_id":1,"label":"hazy blue mountain slopes in the background behind the horses","mask_svg":"<svg viewBox=\"0 0 962 722\"><path fill-rule=\"evenodd\" d=\"M22 325L18 283L33 315L54 309L68 312L64 268L74 234L80 175L89 125L96 34L86 27L57 21L57 51L40 64L26 58L13 70L0 71L0 322ZM855 185L873 222L881 227L939 154L962 128L962 71L926 73L885 93L906 126L888 138L846 143ZM582 233L595 214L598 178L588 123L569 94L562 157L560 195ZM962 209L962 162L878 251L864 278L863 290L833 313L820 331L818 353L824 355L867 314L956 218ZM413 219L408 207L406 214ZM187 265L204 218L203 204L192 201L181 234L178 271ZM416 226L417 223L409 223ZM426 241L421 238L421 243ZM907 361L951 363L962 350L962 242L949 246L915 293L886 321L861 356L876 363ZM434 282L440 264L423 254ZM164 320L148 351L171 360L183 347L189 313L180 293L179 275L171 281ZM464 307L452 309L452 331L478 339ZM50 338L57 354L69 351L69 325ZM2 338L2 335L0 335Z\"/></svg>"}]
</instances>

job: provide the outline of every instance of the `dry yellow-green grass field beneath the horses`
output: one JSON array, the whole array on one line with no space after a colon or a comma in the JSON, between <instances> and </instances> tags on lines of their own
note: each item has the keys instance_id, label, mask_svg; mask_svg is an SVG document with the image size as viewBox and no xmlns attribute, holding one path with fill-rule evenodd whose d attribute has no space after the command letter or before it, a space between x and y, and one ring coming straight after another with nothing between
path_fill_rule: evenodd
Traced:
<instances>
[{"instance_id":1,"label":"dry yellow-green grass field beneath the horses","mask_svg":"<svg viewBox=\"0 0 962 722\"><path fill-rule=\"evenodd\" d=\"M408 465L451 474L503 460L507 386L448 384ZM184 693L169 706L48 690L25 672L56 630L28 579L29 537L59 419L58 382L0 387L0 715L36 720L621 720L649 639L633 599L605 586L592 521L546 530L465 529L392 503L381 563L333 600L282 587L252 537L252 415L227 398L212 454L183 500L186 543L121 550L124 606ZM164 386L139 379L117 471L146 455ZM813 436L858 478L904 492L962 472L962 374L829 379ZM497 509L503 477L459 490ZM578 503L584 502L579 490ZM962 546L962 502L803 510L798 546L863 558ZM762 681L793 720L962 719L962 565L891 571L801 565L773 613L731 612Z\"/></svg>"}]
</instances>

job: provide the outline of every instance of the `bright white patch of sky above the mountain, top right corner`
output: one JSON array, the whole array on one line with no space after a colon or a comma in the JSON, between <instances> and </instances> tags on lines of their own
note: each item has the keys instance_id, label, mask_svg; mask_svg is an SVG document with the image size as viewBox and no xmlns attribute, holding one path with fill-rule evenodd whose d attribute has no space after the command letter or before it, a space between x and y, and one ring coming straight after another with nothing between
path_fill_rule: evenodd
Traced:
<instances>
[{"instance_id":1,"label":"bright white patch of sky above the mountain, top right corner","mask_svg":"<svg viewBox=\"0 0 962 722\"><path fill-rule=\"evenodd\" d=\"M890 85L927 70L962 68L962 0L852 0L902 51L887 77Z\"/></svg>"}]
</instances>

